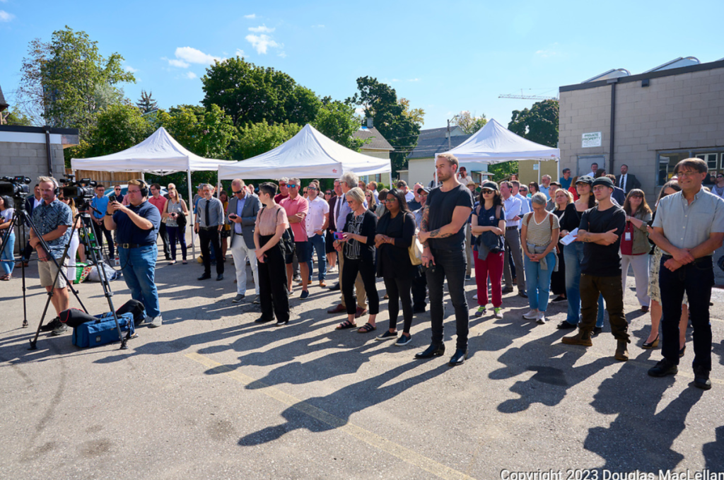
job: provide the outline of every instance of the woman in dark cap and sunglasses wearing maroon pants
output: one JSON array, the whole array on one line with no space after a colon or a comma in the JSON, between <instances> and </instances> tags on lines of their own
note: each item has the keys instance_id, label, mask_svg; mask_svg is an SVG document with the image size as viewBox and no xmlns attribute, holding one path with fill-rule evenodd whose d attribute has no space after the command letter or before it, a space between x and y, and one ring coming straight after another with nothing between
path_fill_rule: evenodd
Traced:
<instances>
[{"instance_id":1,"label":"woman in dark cap and sunglasses wearing maroon pants","mask_svg":"<svg viewBox=\"0 0 724 480\"><path fill-rule=\"evenodd\" d=\"M502 268L505 248L492 251L483 235L498 240L505 235L505 207L498 185L495 182L483 182L479 205L472 216L471 232L476 237L473 243L473 262L475 264L475 283L478 287L478 310L475 316L483 316L488 304L488 279L492 290L493 316L502 319ZM496 237L492 237L495 235Z\"/></svg>"}]
</instances>

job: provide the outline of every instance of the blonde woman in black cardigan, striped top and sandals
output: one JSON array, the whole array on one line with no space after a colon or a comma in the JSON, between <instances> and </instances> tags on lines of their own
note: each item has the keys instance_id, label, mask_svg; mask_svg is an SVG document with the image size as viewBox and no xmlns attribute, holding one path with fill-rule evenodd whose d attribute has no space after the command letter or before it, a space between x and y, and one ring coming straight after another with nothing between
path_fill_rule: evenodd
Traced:
<instances>
[{"instance_id":1,"label":"blonde woman in black cardigan, striped top and sandals","mask_svg":"<svg viewBox=\"0 0 724 480\"><path fill-rule=\"evenodd\" d=\"M377 217L364 206L364 192L355 187L345 195L352 211L347 216L347 224L341 231L342 239L334 240L334 248L345 256L342 268L342 295L347 304L347 321L337 326L337 330L356 327L354 287L357 274L362 277L364 288L369 300L369 321L360 327L359 333L369 333L377 329L375 319L379 313L379 295L375 282L374 269L374 236L376 235Z\"/></svg>"}]
</instances>

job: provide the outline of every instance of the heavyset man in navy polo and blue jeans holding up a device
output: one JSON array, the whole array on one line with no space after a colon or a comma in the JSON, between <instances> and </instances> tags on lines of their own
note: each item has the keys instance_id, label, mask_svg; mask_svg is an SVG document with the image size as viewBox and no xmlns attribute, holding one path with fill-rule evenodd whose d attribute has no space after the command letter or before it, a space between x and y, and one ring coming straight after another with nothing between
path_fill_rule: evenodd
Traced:
<instances>
[{"instance_id":1,"label":"heavyset man in navy polo and blue jeans holding up a device","mask_svg":"<svg viewBox=\"0 0 724 480\"><path fill-rule=\"evenodd\" d=\"M151 328L161 327L163 319L159 308L159 292L156 290L156 235L161 224L161 214L148 201L148 187L140 180L130 180L126 198L130 204L117 201L109 203L104 223L108 230L117 230L118 256L131 298L143 303L146 319Z\"/></svg>"}]
</instances>

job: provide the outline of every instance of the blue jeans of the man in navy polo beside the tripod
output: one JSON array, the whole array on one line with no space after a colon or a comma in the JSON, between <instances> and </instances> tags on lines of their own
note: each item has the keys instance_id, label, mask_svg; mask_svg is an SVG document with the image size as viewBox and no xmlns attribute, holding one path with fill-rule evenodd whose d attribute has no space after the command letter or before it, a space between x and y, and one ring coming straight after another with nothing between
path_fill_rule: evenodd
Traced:
<instances>
[{"instance_id":1,"label":"blue jeans of the man in navy polo beside the tripod","mask_svg":"<svg viewBox=\"0 0 724 480\"><path fill-rule=\"evenodd\" d=\"M154 318L161 315L159 292L156 290L156 258L159 249L156 244L138 248L119 248L121 271L126 285L131 289L131 298L143 303L146 315Z\"/></svg>"}]
</instances>

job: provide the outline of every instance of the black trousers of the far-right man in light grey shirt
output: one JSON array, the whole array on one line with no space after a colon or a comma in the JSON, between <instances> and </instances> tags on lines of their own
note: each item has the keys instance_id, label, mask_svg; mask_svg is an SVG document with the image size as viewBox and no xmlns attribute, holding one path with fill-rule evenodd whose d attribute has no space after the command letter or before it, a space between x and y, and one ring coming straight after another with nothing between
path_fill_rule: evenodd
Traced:
<instances>
[{"instance_id":1,"label":"black trousers of the far-right man in light grey shirt","mask_svg":"<svg viewBox=\"0 0 724 480\"><path fill-rule=\"evenodd\" d=\"M683 292L689 297L691 326L694 327L693 366L712 369L712 325L709 322L709 300L714 286L712 257L696 258L691 264L670 271L664 266L670 257L661 258L659 288L661 289L661 354L668 361L678 364L679 320ZM678 302L678 306L676 305Z\"/></svg>"}]
</instances>

